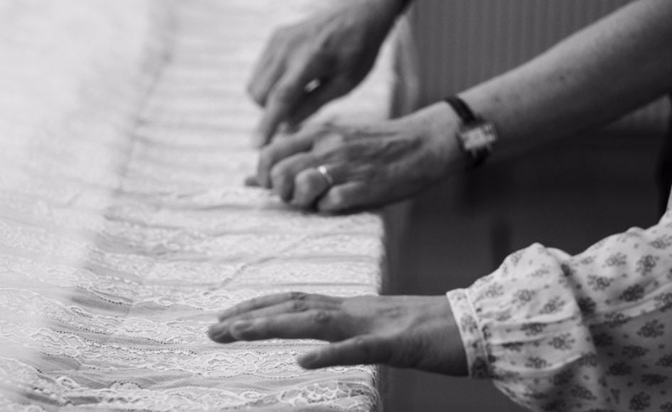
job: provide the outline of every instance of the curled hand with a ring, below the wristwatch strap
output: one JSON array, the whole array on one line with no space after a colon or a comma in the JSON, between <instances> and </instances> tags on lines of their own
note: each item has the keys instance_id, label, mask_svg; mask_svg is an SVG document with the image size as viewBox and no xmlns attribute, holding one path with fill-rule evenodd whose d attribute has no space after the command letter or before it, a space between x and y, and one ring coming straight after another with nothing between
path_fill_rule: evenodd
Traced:
<instances>
[{"instance_id":1,"label":"curled hand with a ring, below the wristwatch strap","mask_svg":"<svg viewBox=\"0 0 672 412\"><path fill-rule=\"evenodd\" d=\"M366 126L306 126L262 149L254 181L285 202L336 212L414 195L462 162L457 116L438 103ZM324 165L331 182L317 170Z\"/></svg>"}]
</instances>

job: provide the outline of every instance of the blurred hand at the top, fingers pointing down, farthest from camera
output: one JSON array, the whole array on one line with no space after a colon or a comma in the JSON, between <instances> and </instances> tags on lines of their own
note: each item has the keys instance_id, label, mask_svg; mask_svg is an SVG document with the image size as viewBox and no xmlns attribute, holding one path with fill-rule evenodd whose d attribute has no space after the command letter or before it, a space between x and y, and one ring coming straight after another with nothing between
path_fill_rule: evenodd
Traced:
<instances>
[{"instance_id":1,"label":"blurred hand at the top, fingers pointing down, farthest from camera","mask_svg":"<svg viewBox=\"0 0 672 412\"><path fill-rule=\"evenodd\" d=\"M255 143L299 124L368 74L402 9L400 0L332 1L306 21L275 31L247 87L265 107Z\"/></svg>"}]
</instances>

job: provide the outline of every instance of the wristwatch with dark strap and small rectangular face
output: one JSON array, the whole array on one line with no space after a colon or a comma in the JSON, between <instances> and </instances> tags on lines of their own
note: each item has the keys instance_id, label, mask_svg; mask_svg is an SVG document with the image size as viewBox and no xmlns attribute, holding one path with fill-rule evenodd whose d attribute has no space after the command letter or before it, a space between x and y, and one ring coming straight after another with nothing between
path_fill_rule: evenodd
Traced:
<instances>
[{"instance_id":1,"label":"wristwatch with dark strap and small rectangular face","mask_svg":"<svg viewBox=\"0 0 672 412\"><path fill-rule=\"evenodd\" d=\"M447 97L444 102L462 121L456 134L459 146L471 156L472 166L479 166L488 158L492 145L497 141L494 124L474 114L469 105L457 96Z\"/></svg>"}]
</instances>

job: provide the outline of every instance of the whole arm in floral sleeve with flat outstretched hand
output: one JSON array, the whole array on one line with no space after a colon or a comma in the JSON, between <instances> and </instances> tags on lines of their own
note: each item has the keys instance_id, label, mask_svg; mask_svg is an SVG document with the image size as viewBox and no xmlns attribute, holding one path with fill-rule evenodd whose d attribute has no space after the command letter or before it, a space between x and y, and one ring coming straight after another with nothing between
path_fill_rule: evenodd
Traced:
<instances>
[{"instance_id":1,"label":"whole arm in floral sleeve with flat outstretched hand","mask_svg":"<svg viewBox=\"0 0 672 412\"><path fill-rule=\"evenodd\" d=\"M672 378L672 212L569 256L534 244L442 296L336 298L285 293L225 310L216 342L273 337L331 343L314 369L385 363L493 379L539 411L667 411ZM665 408L663 408L665 407Z\"/></svg>"}]
</instances>

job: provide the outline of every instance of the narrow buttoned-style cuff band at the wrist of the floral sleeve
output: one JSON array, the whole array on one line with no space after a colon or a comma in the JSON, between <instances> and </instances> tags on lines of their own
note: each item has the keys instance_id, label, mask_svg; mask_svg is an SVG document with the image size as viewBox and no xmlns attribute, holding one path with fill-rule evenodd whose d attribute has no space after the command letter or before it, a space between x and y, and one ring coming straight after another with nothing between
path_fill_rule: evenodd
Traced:
<instances>
[{"instance_id":1,"label":"narrow buttoned-style cuff band at the wrist of the floral sleeve","mask_svg":"<svg viewBox=\"0 0 672 412\"><path fill-rule=\"evenodd\" d=\"M446 293L448 302L457 322L459 335L462 338L469 377L487 379L490 377L489 362L484 346L481 328L476 322L474 307L469 301L465 289L455 289Z\"/></svg>"}]
</instances>

